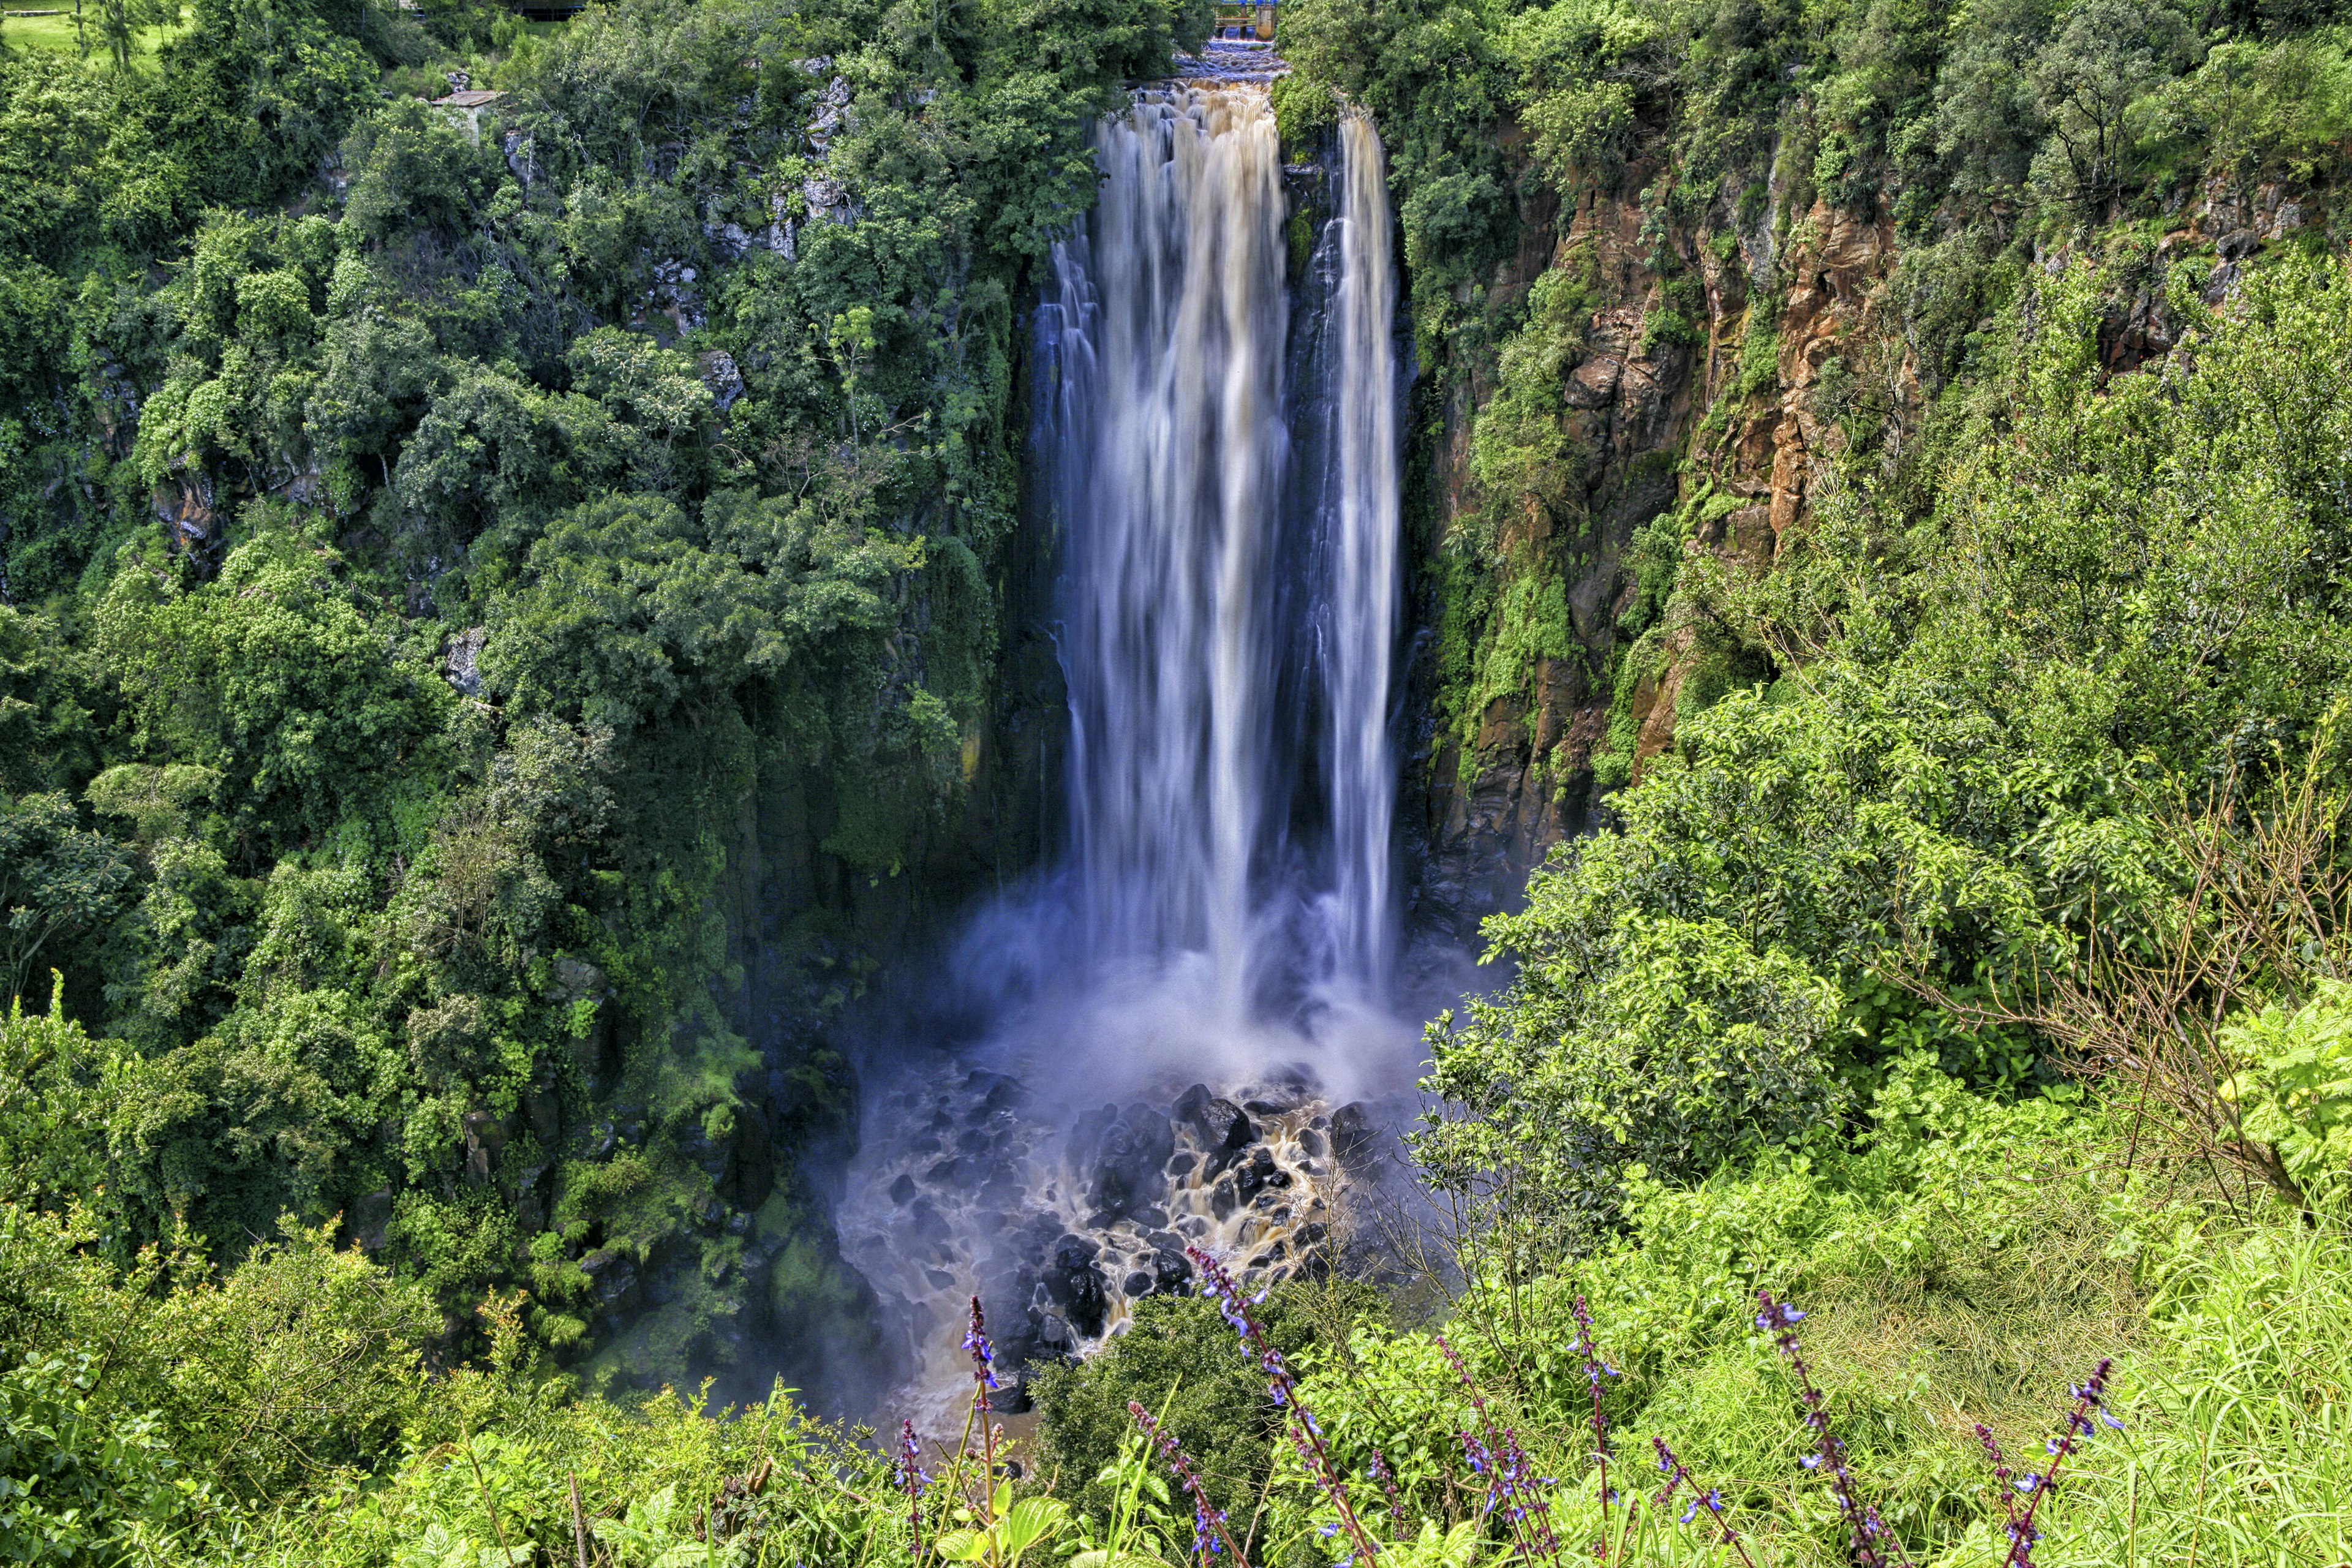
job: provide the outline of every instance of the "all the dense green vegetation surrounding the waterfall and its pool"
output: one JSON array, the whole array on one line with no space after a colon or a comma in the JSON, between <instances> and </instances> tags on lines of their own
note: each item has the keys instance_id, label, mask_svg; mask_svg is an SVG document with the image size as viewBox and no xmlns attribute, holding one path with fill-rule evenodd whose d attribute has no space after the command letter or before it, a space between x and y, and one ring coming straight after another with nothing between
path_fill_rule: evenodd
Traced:
<instances>
[{"instance_id":1,"label":"all the dense green vegetation surrounding the waterfall and its pool","mask_svg":"<svg viewBox=\"0 0 2352 1568\"><path fill-rule=\"evenodd\" d=\"M826 1025L1016 835L1040 261L1209 28L0 19L0 1556L2345 1554L2317 0L1289 0L1284 158L1390 160L1416 788L1588 827L1430 1025L1449 1222L997 1368L997 1476L691 1392L875 1354Z\"/></svg>"}]
</instances>

